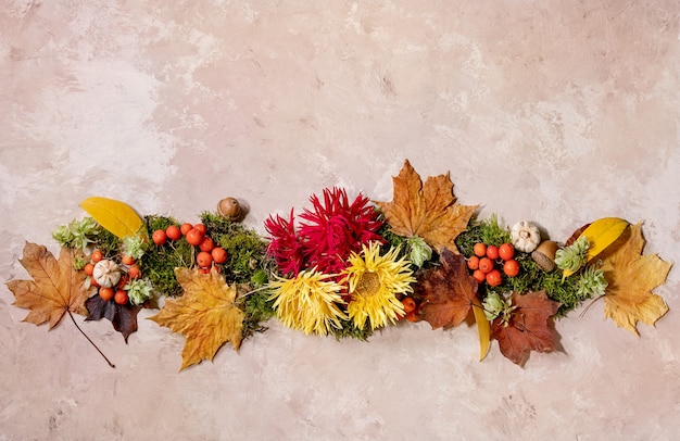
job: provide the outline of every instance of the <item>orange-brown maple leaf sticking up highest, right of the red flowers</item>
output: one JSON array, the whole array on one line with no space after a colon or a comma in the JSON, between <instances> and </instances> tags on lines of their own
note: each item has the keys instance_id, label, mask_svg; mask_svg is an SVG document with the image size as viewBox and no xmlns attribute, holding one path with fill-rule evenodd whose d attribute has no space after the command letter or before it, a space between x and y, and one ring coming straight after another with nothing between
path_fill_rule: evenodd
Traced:
<instances>
[{"instance_id":1,"label":"orange-brown maple leaf sticking up highest, right of the red flowers","mask_svg":"<svg viewBox=\"0 0 680 441\"><path fill-rule=\"evenodd\" d=\"M467 228L479 205L458 205L449 176L430 176L425 185L406 160L392 178L392 202L376 202L385 213L392 231L399 236L418 236L438 253L451 250L458 253L455 238Z\"/></svg>"}]
</instances>

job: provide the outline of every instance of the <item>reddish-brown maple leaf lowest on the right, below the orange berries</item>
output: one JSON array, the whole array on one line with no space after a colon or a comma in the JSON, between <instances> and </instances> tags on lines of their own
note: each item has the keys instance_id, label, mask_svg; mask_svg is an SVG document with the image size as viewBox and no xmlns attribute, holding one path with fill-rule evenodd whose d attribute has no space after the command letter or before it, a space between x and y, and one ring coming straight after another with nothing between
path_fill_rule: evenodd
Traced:
<instances>
[{"instance_id":1,"label":"reddish-brown maple leaf lowest on the right, below the orange berries","mask_svg":"<svg viewBox=\"0 0 680 441\"><path fill-rule=\"evenodd\" d=\"M496 318L491 324L491 338L499 341L501 353L513 363L524 366L531 351L552 352L555 350L555 330L552 316L559 308L545 291L513 293L515 310L507 324Z\"/></svg>"}]
</instances>

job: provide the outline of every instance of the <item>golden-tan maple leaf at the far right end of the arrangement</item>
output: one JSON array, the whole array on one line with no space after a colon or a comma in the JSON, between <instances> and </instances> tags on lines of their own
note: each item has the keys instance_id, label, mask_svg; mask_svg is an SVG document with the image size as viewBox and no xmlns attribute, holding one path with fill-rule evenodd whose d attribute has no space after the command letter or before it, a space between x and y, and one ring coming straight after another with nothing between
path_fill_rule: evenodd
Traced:
<instances>
[{"instance_id":1,"label":"golden-tan maple leaf at the far right end of the arrangement","mask_svg":"<svg viewBox=\"0 0 680 441\"><path fill-rule=\"evenodd\" d=\"M641 224L630 226L630 236L604 257L602 270L608 282L604 316L617 326L638 333L638 322L654 326L668 311L660 295L652 290L666 282L672 263L656 254L642 255L645 240Z\"/></svg>"}]
</instances>

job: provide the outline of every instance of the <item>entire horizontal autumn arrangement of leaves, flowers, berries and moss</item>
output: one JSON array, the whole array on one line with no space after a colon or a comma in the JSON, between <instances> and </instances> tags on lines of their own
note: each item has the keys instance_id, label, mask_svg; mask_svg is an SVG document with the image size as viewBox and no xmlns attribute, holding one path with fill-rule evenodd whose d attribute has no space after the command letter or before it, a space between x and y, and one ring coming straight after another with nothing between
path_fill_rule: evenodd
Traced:
<instances>
[{"instance_id":1,"label":"entire horizontal autumn arrangement of leaves, flowers, berries and moss","mask_svg":"<svg viewBox=\"0 0 680 441\"><path fill-rule=\"evenodd\" d=\"M421 320L474 324L480 360L495 340L524 366L532 351L557 350L554 319L585 301L603 299L605 317L633 333L668 310L652 290L671 263L643 254L641 224L595 219L563 243L533 222L477 218L449 174L423 181L408 161L392 201L333 187L310 203L270 215L265 238L240 223L234 198L196 225L89 198L88 217L54 229L59 259L27 243L20 262L33 280L7 285L30 310L26 322L52 328L67 313L80 329L74 313L106 318L126 342L139 311L158 308L149 318L186 337L180 369L226 343L238 351L273 316L306 335L362 340Z\"/></svg>"}]
</instances>

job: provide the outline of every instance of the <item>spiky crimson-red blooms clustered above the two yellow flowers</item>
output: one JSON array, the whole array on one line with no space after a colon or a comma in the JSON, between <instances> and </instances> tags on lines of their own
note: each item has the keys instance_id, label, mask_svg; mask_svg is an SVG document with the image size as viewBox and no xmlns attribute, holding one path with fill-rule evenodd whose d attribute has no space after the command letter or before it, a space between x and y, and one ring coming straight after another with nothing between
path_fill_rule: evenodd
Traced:
<instances>
[{"instance_id":1,"label":"spiky crimson-red blooms clustered above the two yellow flowers","mask_svg":"<svg viewBox=\"0 0 680 441\"><path fill-rule=\"evenodd\" d=\"M323 201L313 194L313 210L300 215L295 230L293 213L290 220L269 216L265 228L272 236L267 251L284 274L297 275L301 269L316 268L326 274L338 274L347 267L352 252L361 252L362 244L385 239L377 234L382 226L378 212L368 199L358 194L350 203L343 189L324 189Z\"/></svg>"}]
</instances>

